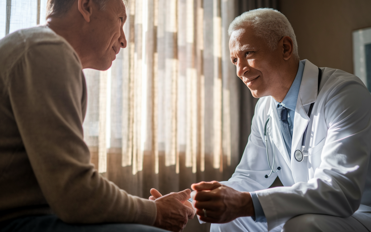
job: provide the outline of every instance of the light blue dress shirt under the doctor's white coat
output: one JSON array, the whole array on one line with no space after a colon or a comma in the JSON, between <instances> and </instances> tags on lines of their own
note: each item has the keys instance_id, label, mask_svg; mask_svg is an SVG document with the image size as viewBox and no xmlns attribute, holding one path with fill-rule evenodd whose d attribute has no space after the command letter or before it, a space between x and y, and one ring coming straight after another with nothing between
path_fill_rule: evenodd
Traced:
<instances>
[{"instance_id":1,"label":"light blue dress shirt under the doctor's white coat","mask_svg":"<svg viewBox=\"0 0 371 232\"><path fill-rule=\"evenodd\" d=\"M293 124L294 124L295 108L296 108L296 102L298 101L299 89L300 89L300 84L301 84L301 80L303 77L304 66L305 66L305 61L300 61L298 72L296 73L295 79L292 82L289 92L287 92L283 101L279 103L273 99L273 101L275 101L276 103L276 106L283 105L284 107L288 108L287 121L289 122L289 129L290 129L291 136L292 136L292 131L294 128ZM262 205L260 204L256 193L250 192L250 195L253 201L254 211L255 211L255 218L254 217L252 218L255 220L255 222L267 222Z\"/></svg>"}]
</instances>

